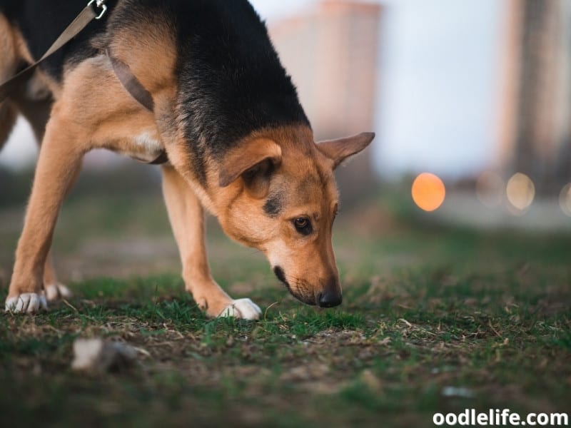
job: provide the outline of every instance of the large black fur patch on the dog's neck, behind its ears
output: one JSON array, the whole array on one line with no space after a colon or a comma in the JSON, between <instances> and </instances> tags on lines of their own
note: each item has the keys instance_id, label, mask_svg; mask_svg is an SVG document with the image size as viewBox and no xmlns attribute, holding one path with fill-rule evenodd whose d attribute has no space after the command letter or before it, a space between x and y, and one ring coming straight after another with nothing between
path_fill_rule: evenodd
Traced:
<instances>
[{"instance_id":1,"label":"large black fur patch on the dog's neck, behind its ears","mask_svg":"<svg viewBox=\"0 0 571 428\"><path fill-rule=\"evenodd\" d=\"M223 153L252 131L309 121L261 22L246 0L184 3L178 26L181 116L195 159ZM205 179L205 168L196 165Z\"/></svg>"}]
</instances>

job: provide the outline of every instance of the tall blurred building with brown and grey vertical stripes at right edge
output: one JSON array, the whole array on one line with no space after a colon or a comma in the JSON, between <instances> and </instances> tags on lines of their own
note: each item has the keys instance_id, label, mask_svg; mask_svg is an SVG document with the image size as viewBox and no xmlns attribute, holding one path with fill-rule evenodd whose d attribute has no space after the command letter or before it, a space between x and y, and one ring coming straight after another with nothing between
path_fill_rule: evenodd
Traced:
<instances>
[{"instance_id":1,"label":"tall blurred building with brown and grey vertical stripes at right edge","mask_svg":"<svg viewBox=\"0 0 571 428\"><path fill-rule=\"evenodd\" d=\"M506 5L497 167L558 193L571 180L571 1Z\"/></svg>"}]
</instances>

